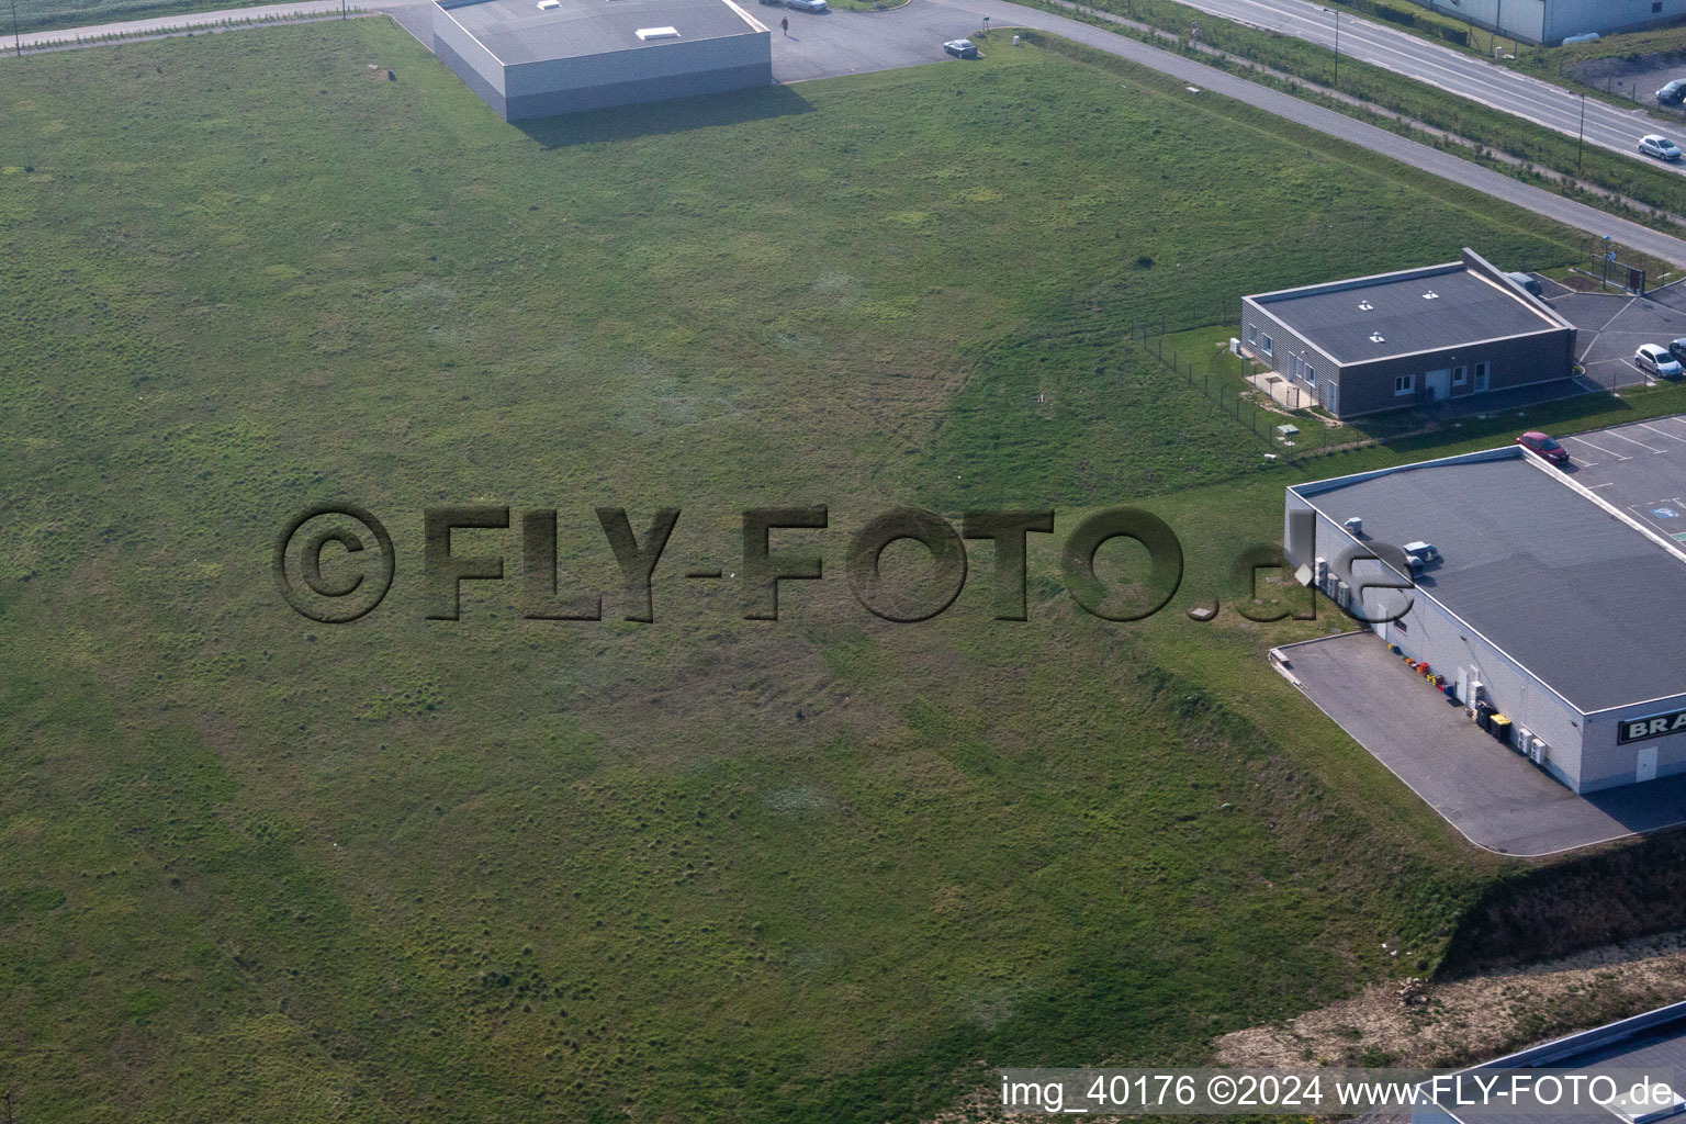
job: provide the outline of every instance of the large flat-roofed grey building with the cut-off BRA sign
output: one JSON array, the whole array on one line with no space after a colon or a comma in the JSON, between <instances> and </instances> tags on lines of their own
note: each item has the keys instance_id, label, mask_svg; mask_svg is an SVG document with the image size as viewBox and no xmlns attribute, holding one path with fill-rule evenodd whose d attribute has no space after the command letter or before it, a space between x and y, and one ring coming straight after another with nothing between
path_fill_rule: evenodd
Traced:
<instances>
[{"instance_id":1,"label":"large flat-roofed grey building with the cut-off BRA sign","mask_svg":"<svg viewBox=\"0 0 1686 1124\"><path fill-rule=\"evenodd\" d=\"M1285 548L1575 792L1686 772L1686 553L1568 474L1512 445L1295 485Z\"/></svg>"}]
</instances>

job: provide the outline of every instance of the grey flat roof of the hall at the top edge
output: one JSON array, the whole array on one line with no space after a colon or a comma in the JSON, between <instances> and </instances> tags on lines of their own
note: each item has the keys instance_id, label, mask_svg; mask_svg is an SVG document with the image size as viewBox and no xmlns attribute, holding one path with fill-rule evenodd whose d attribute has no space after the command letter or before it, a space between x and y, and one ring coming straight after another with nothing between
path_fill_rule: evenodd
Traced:
<instances>
[{"instance_id":1,"label":"grey flat roof of the hall at the top edge","mask_svg":"<svg viewBox=\"0 0 1686 1124\"><path fill-rule=\"evenodd\" d=\"M536 0L447 0L438 8L504 66L765 30L727 0L561 0L550 10ZM679 37L637 37L639 29L652 27L673 27Z\"/></svg>"}]
</instances>

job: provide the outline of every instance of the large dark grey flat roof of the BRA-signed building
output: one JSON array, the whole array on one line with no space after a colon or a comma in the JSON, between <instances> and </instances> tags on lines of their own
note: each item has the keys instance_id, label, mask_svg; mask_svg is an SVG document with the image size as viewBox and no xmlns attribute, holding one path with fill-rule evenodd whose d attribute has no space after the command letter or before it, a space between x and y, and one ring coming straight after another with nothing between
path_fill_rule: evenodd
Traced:
<instances>
[{"instance_id":1,"label":"large dark grey flat roof of the BRA-signed building","mask_svg":"<svg viewBox=\"0 0 1686 1124\"><path fill-rule=\"evenodd\" d=\"M1366 541L1433 543L1418 590L1580 711L1686 694L1686 563L1560 470L1501 457L1293 492L1335 524L1362 517Z\"/></svg>"}]
</instances>

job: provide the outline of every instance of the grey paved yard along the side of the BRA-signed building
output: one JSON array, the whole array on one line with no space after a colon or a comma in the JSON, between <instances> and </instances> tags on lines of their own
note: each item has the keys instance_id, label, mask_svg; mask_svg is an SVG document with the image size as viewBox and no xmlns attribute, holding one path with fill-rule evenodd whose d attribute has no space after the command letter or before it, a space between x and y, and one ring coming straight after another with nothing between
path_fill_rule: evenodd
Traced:
<instances>
[{"instance_id":1,"label":"grey paved yard along the side of the BRA-signed building","mask_svg":"<svg viewBox=\"0 0 1686 1124\"><path fill-rule=\"evenodd\" d=\"M1576 795L1482 733L1372 632L1278 650L1318 709L1489 851L1556 854L1686 822L1686 775Z\"/></svg>"}]
</instances>

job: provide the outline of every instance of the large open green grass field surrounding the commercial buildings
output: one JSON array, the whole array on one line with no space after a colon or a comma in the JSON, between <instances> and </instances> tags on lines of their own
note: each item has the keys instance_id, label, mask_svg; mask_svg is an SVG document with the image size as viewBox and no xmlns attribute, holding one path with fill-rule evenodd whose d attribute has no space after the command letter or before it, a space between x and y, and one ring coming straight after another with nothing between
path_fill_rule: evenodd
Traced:
<instances>
[{"instance_id":1,"label":"large open green grass field surrounding the commercial buildings","mask_svg":"<svg viewBox=\"0 0 1686 1124\"><path fill-rule=\"evenodd\" d=\"M1125 332L1566 231L1035 47L521 130L359 20L25 57L0 108L20 1124L917 1121L1428 971L1506 870L1264 671L1332 622L1182 617L1293 477ZM270 575L322 500L398 543L354 625ZM592 507L681 507L658 622L425 620L467 502L560 509L604 588ZM781 622L676 576L814 502ZM1189 551L1143 625L1040 539L1027 624L985 546L922 625L841 578L892 506L1118 502Z\"/></svg>"}]
</instances>

